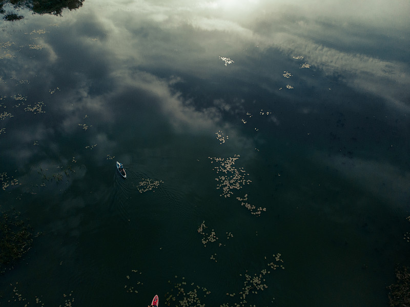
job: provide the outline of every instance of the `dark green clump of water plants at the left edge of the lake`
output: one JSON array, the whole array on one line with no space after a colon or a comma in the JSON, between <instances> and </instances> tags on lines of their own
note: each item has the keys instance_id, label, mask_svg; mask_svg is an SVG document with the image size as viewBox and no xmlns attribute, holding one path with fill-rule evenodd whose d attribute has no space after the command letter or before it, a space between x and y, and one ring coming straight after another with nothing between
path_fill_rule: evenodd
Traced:
<instances>
[{"instance_id":1,"label":"dark green clump of water plants at the left edge of the lake","mask_svg":"<svg viewBox=\"0 0 410 307\"><path fill-rule=\"evenodd\" d=\"M30 249L32 241L31 227L22 220L19 212L0 213L0 274Z\"/></svg>"}]
</instances>

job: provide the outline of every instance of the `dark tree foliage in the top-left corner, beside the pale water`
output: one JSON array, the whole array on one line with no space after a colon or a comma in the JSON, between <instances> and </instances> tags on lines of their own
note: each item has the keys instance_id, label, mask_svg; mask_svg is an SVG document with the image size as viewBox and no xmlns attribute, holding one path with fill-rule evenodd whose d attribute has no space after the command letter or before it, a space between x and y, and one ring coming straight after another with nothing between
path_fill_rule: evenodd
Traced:
<instances>
[{"instance_id":1,"label":"dark tree foliage in the top-left corner, beside the pale water","mask_svg":"<svg viewBox=\"0 0 410 307\"><path fill-rule=\"evenodd\" d=\"M75 10L83 6L84 0L0 0L0 13L6 21L16 21L24 18L18 15L20 8L28 8L36 14L61 15L64 9ZM15 11L5 8L9 4ZM11 9L12 10L12 9Z\"/></svg>"}]
</instances>

